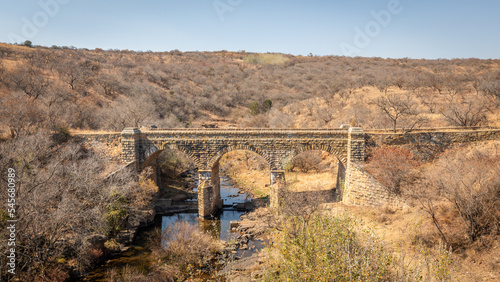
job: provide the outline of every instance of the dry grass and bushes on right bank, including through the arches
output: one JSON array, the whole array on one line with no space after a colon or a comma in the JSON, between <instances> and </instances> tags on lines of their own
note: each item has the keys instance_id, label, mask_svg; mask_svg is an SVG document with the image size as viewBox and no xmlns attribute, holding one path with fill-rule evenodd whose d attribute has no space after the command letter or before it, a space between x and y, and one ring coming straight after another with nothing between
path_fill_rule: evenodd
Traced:
<instances>
[{"instance_id":1,"label":"dry grass and bushes on right bank, including through the arches","mask_svg":"<svg viewBox=\"0 0 500 282\"><path fill-rule=\"evenodd\" d=\"M404 209L321 205L327 199L314 192L335 187L335 157L322 158L326 153L314 151L297 156L287 172L288 185L281 194L280 209L268 223L275 233L264 278L498 280L500 143L457 145L438 151L430 159L404 147L376 148L371 152L365 169L383 182L390 193L406 199ZM230 176L238 179L243 188L261 191L269 183L265 161L255 154L232 153L227 162ZM345 213L356 220L345 218ZM336 227L332 226L334 223ZM352 245L353 253L344 253L351 262L324 251L342 253L346 250L342 244L349 240L358 244ZM358 252L365 256L356 258ZM371 263L372 256L387 260L387 265L380 268ZM351 268L343 263L351 263ZM363 269L366 264L375 269Z\"/></svg>"}]
</instances>

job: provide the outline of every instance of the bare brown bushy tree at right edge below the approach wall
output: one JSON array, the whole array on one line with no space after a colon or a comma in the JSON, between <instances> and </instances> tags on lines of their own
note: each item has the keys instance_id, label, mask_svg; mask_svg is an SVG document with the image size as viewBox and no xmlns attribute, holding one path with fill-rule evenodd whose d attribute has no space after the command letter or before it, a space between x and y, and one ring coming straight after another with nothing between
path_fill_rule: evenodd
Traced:
<instances>
[{"instance_id":1,"label":"bare brown bushy tree at right edge below the approach wall","mask_svg":"<svg viewBox=\"0 0 500 282\"><path fill-rule=\"evenodd\" d=\"M434 189L453 204L470 241L500 227L498 142L458 147L445 153L427 173Z\"/></svg>"}]
</instances>

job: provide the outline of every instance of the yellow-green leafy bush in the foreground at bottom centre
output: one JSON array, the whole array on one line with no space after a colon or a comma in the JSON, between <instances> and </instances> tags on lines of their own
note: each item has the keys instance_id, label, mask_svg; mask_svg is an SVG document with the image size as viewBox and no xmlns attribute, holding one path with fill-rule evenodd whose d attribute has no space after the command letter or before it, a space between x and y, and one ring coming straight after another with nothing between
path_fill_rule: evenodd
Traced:
<instances>
[{"instance_id":1,"label":"yellow-green leafy bush in the foreground at bottom centre","mask_svg":"<svg viewBox=\"0 0 500 282\"><path fill-rule=\"evenodd\" d=\"M269 248L268 281L380 281L388 278L391 257L372 232L357 232L347 215L314 214L303 227L290 217Z\"/></svg>"}]
</instances>

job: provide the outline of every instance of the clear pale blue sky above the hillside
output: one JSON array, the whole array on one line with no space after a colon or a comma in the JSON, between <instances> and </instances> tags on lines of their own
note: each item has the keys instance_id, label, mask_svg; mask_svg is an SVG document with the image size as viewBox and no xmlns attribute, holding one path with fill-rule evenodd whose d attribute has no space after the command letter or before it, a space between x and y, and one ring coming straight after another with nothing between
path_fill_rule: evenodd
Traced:
<instances>
[{"instance_id":1,"label":"clear pale blue sky above the hillside","mask_svg":"<svg viewBox=\"0 0 500 282\"><path fill-rule=\"evenodd\" d=\"M380 15L378 22L374 14ZM3 0L0 42L500 58L499 14L498 0Z\"/></svg>"}]
</instances>

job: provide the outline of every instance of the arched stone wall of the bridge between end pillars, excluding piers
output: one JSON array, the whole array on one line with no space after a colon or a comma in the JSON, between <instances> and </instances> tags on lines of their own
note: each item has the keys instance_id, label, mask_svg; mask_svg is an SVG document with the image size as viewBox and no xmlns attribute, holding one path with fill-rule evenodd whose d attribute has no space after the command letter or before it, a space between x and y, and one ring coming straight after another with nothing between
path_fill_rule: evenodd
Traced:
<instances>
[{"instance_id":1,"label":"arched stone wall of the bridge between end pillars, excluding piers","mask_svg":"<svg viewBox=\"0 0 500 282\"><path fill-rule=\"evenodd\" d=\"M283 170L294 154L323 150L347 162L347 130L182 129L143 131L142 152L174 149L185 152L200 169L209 170L233 150L256 152L272 170ZM123 143L123 142L122 142Z\"/></svg>"}]
</instances>

